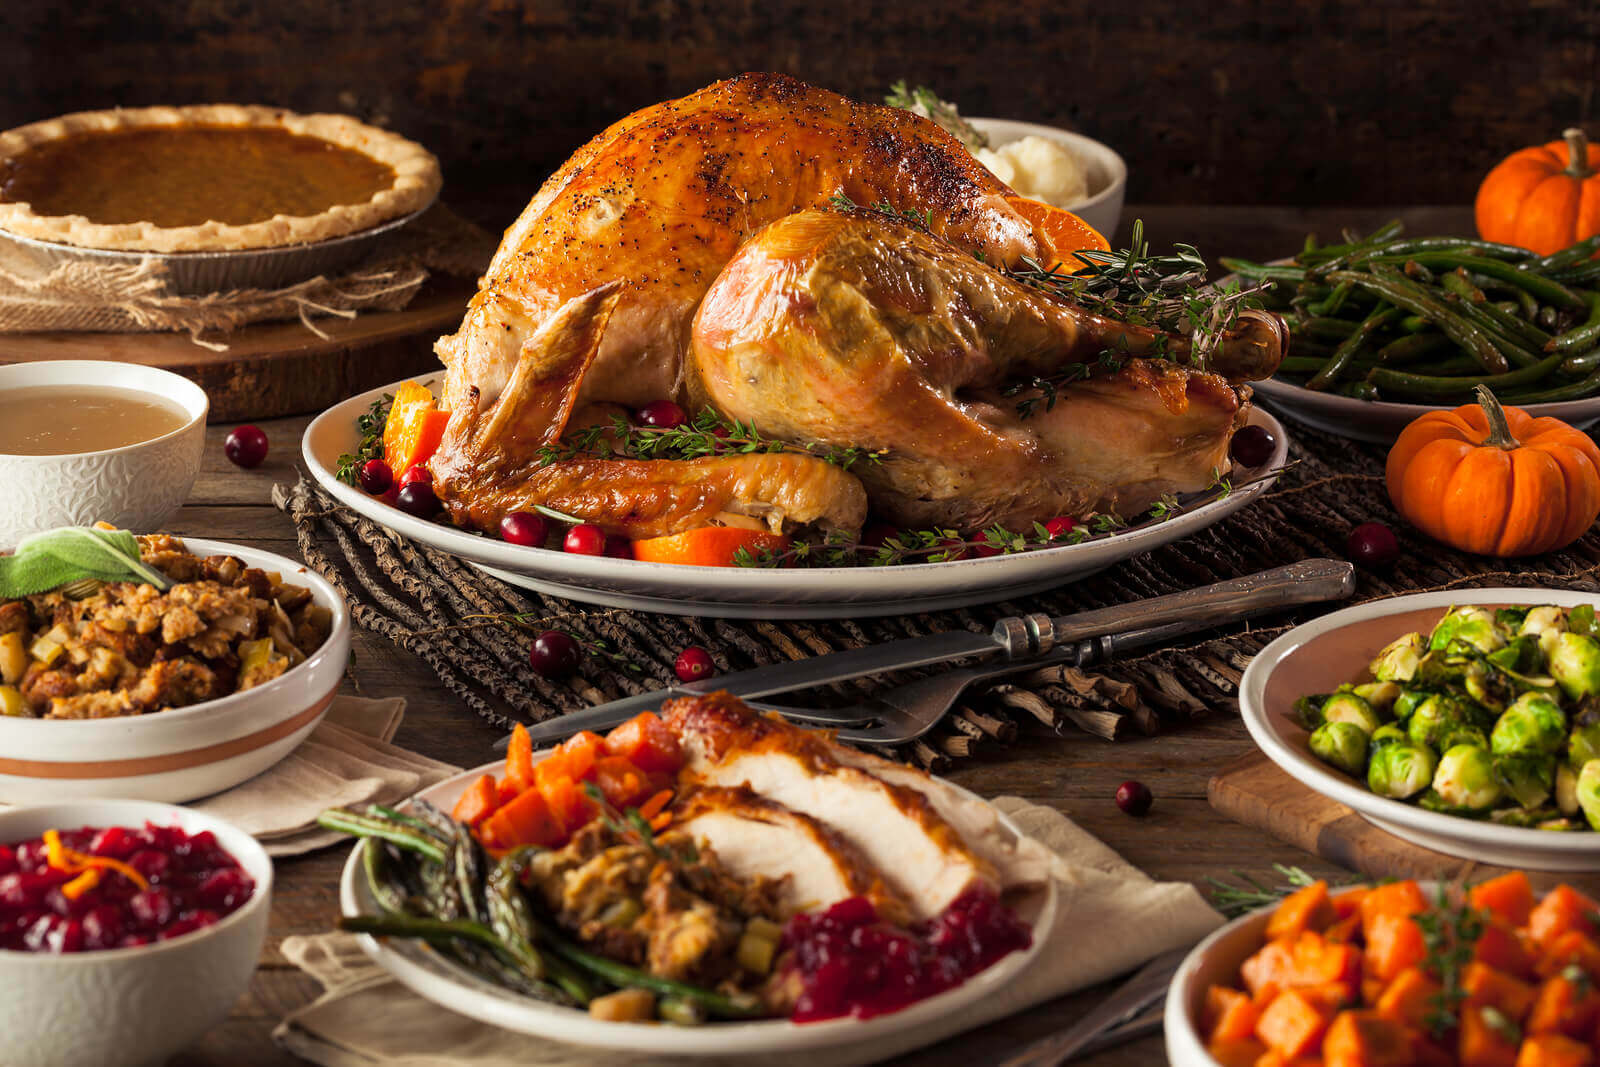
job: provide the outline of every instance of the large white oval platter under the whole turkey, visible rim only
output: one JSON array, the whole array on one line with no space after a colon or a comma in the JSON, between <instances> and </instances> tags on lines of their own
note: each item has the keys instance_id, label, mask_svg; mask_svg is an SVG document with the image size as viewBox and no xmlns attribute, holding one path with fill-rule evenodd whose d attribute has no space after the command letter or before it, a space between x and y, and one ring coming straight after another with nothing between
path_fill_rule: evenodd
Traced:
<instances>
[{"instance_id":1,"label":"large white oval platter under the whole turkey, visible rim only","mask_svg":"<svg viewBox=\"0 0 1600 1067\"><path fill-rule=\"evenodd\" d=\"M398 384L398 382L397 382ZM1275 475L1160 523L1110 537L949 563L901 566L744 568L643 563L507 544L494 537L406 515L334 477L339 456L354 453L355 419L395 386L373 389L328 408L306 429L306 466L341 504L390 530L478 565L514 585L611 608L715 617L837 619L915 614L1008 600L1061 585L1211 526L1256 499ZM1277 440L1266 469L1288 458L1283 426L1254 408L1250 421Z\"/></svg>"}]
</instances>

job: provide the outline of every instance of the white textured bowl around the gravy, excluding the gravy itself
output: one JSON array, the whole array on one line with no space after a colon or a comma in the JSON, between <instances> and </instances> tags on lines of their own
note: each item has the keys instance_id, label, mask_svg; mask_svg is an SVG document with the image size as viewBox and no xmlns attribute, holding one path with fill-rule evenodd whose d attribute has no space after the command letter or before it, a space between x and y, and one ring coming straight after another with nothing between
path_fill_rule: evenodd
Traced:
<instances>
[{"instance_id":1,"label":"white textured bowl around the gravy, excluding the gravy itself","mask_svg":"<svg viewBox=\"0 0 1600 1067\"><path fill-rule=\"evenodd\" d=\"M42 360L0 366L0 392L34 386L101 386L155 394L189 421L162 437L123 448L62 456L0 453L0 550L56 526L106 522L149 533L182 507L205 450L205 390L187 378L138 363Z\"/></svg>"}]
</instances>

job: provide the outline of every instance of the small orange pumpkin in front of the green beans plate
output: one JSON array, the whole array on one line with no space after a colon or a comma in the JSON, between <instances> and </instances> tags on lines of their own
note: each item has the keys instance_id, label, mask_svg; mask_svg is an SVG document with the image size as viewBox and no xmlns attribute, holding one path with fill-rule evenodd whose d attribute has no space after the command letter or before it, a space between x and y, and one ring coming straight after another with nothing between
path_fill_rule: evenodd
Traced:
<instances>
[{"instance_id":1,"label":"small orange pumpkin in front of the green beans plate","mask_svg":"<svg viewBox=\"0 0 1600 1067\"><path fill-rule=\"evenodd\" d=\"M1389 499L1437 541L1482 555L1538 555L1600 515L1600 446L1560 419L1478 403L1429 411L1389 450Z\"/></svg>"}]
</instances>

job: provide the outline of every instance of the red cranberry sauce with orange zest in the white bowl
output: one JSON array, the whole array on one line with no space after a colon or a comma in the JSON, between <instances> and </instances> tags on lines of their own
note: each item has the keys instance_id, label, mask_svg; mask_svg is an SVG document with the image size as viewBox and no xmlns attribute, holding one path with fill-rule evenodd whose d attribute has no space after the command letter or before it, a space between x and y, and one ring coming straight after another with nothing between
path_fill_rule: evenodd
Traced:
<instances>
[{"instance_id":1,"label":"red cranberry sauce with orange zest in the white bowl","mask_svg":"<svg viewBox=\"0 0 1600 1067\"><path fill-rule=\"evenodd\" d=\"M218 923L254 891L210 830L51 829L0 845L0 949L69 953L170 941Z\"/></svg>"}]
</instances>

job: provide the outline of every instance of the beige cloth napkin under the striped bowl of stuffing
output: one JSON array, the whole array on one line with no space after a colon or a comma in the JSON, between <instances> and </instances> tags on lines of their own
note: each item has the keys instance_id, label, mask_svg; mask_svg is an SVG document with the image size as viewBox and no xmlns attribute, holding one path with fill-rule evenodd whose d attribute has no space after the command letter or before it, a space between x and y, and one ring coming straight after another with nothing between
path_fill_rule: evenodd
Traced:
<instances>
[{"instance_id":1,"label":"beige cloth napkin under the striped bowl of stuffing","mask_svg":"<svg viewBox=\"0 0 1600 1067\"><path fill-rule=\"evenodd\" d=\"M336 697L288 757L189 806L251 833L270 856L334 845L346 837L317 825L325 808L395 803L461 769L389 744L403 717L402 697Z\"/></svg>"}]
</instances>

